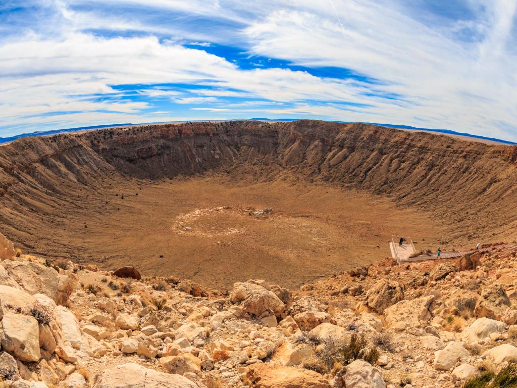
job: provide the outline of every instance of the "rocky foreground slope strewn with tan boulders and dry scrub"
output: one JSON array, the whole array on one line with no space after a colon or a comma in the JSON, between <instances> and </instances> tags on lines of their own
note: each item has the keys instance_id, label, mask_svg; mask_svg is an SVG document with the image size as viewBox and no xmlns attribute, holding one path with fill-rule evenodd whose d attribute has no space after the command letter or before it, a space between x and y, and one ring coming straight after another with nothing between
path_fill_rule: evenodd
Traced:
<instances>
[{"instance_id":1,"label":"rocky foreground slope strewn with tan boulders and dry scrub","mask_svg":"<svg viewBox=\"0 0 517 388\"><path fill-rule=\"evenodd\" d=\"M517 246L489 248L223 294L24 255L0 235L0 386L514 386L501 379L517 380Z\"/></svg>"}]
</instances>

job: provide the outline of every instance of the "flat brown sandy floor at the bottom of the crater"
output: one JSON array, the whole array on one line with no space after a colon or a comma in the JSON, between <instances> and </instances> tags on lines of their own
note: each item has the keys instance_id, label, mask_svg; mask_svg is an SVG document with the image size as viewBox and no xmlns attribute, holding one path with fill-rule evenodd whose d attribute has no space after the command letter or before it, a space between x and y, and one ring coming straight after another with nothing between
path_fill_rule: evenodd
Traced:
<instances>
[{"instance_id":1,"label":"flat brown sandy floor at the bottom of the crater","mask_svg":"<svg viewBox=\"0 0 517 388\"><path fill-rule=\"evenodd\" d=\"M307 183L196 177L133 181L120 194L107 194L102 211L67 219L60 240L80 248L79 261L221 289L248 278L299 286L389 256L391 234L437 246L444 233L381 197Z\"/></svg>"}]
</instances>

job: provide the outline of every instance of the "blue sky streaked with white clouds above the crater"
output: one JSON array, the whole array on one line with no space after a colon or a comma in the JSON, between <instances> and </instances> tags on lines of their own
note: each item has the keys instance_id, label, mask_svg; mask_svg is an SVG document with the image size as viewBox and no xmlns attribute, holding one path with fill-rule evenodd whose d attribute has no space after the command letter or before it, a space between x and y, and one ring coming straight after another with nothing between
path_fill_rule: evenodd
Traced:
<instances>
[{"instance_id":1,"label":"blue sky streaked with white clouds above the crater","mask_svg":"<svg viewBox=\"0 0 517 388\"><path fill-rule=\"evenodd\" d=\"M517 0L3 0L0 137L321 118L517 141Z\"/></svg>"}]
</instances>

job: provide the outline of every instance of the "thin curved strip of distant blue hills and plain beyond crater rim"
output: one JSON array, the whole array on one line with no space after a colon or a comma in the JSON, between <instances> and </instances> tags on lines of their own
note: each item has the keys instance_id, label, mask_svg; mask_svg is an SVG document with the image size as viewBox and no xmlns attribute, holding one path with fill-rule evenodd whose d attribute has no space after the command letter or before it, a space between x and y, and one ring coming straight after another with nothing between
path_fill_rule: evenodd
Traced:
<instances>
[{"instance_id":1,"label":"thin curved strip of distant blue hills and plain beyond crater rim","mask_svg":"<svg viewBox=\"0 0 517 388\"><path fill-rule=\"evenodd\" d=\"M382 123L366 123L366 122L350 122L350 121L339 121L339 120L323 120L318 118L266 118L266 117L252 117L252 118L227 118L227 119L208 119L208 120L179 120L179 121L163 121L163 122L153 122L153 123L117 123L117 124L103 124L103 125L93 125L93 126L81 126L81 127L72 127L72 128L60 128L60 129L51 129L47 131L32 131L26 133L20 133L18 135L10 136L10 137L0 137L0 144L10 143L12 141L25 138L25 137L40 137L40 136L53 136L59 135L61 133L70 133L77 131L86 131L86 130L96 130L96 129L108 129L108 128L117 128L117 127L125 127L125 126L140 126L140 125L159 125L159 124L174 124L174 123L185 123L185 122L224 122L224 121L277 121L277 122L292 122L292 121L300 121L300 120L315 120L315 121L325 121L325 122L333 122L333 123L361 123L361 124L371 124L376 126L381 126L385 128L394 128L394 129L409 129L415 131L427 131L433 132L441 135L453 135L453 136L462 136L468 137L472 139L483 139L489 140L493 142L498 142L505 145L517 145L517 142L512 142L509 140L485 137L480 135L475 135L473 133L467 132L458 132L450 129L439 129L439 128L420 128L413 127L409 125L400 125L400 124L382 124Z\"/></svg>"}]
</instances>

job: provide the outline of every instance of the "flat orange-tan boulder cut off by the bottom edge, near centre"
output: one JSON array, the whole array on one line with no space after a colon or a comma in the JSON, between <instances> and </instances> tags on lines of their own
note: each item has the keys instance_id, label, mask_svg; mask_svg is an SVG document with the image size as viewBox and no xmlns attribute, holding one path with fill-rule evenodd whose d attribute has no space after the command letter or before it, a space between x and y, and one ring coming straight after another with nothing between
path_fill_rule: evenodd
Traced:
<instances>
[{"instance_id":1,"label":"flat orange-tan boulder cut off by the bottom edge, near centre","mask_svg":"<svg viewBox=\"0 0 517 388\"><path fill-rule=\"evenodd\" d=\"M245 383L250 388L330 388L328 381L312 370L258 363L249 366Z\"/></svg>"}]
</instances>

